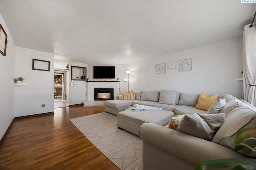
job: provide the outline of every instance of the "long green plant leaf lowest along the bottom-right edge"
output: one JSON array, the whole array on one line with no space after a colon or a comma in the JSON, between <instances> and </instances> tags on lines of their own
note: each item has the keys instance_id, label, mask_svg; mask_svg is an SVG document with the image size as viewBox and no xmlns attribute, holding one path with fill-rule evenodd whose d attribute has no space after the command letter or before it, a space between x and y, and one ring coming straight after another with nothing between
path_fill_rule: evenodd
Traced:
<instances>
[{"instance_id":1,"label":"long green plant leaf lowest along the bottom-right edge","mask_svg":"<svg viewBox=\"0 0 256 170\"><path fill-rule=\"evenodd\" d=\"M216 159L216 160L208 160L206 162L202 162L198 166L196 166L195 170L206 170L206 169L217 169L217 168L227 168L230 166L252 166L256 167L256 159L249 158L228 158L228 159ZM238 169L236 169L238 170ZM243 170L243 169L241 169Z\"/></svg>"}]
</instances>

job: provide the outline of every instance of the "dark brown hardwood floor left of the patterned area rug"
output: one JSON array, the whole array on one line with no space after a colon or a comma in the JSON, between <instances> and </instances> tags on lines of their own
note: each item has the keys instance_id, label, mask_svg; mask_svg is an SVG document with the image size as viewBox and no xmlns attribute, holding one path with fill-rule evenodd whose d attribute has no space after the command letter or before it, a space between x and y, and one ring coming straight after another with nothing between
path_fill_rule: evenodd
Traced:
<instances>
[{"instance_id":1,"label":"dark brown hardwood floor left of the patterned area rug","mask_svg":"<svg viewBox=\"0 0 256 170\"><path fill-rule=\"evenodd\" d=\"M62 107L54 109L54 115L15 120L0 146L0 170L118 170L69 120L104 111L105 107Z\"/></svg>"}]
</instances>

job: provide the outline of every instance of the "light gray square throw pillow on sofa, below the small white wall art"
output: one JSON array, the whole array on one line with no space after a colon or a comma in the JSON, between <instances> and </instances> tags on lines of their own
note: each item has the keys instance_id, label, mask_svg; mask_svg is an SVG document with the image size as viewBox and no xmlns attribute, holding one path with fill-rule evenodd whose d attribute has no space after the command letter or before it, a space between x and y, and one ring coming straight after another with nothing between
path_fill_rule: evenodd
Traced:
<instances>
[{"instance_id":1,"label":"light gray square throw pillow on sofa, below the small white wall art","mask_svg":"<svg viewBox=\"0 0 256 170\"><path fill-rule=\"evenodd\" d=\"M177 90L161 90L158 103L175 105L176 93Z\"/></svg>"}]
</instances>

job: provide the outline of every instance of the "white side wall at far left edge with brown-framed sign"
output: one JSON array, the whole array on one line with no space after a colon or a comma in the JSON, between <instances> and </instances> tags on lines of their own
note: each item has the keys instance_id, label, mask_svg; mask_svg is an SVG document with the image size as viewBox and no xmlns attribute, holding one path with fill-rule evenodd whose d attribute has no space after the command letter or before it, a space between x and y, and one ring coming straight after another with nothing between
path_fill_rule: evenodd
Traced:
<instances>
[{"instance_id":1,"label":"white side wall at far left edge with brown-framed sign","mask_svg":"<svg viewBox=\"0 0 256 170\"><path fill-rule=\"evenodd\" d=\"M14 116L14 76L16 45L0 14L0 23L9 41L6 56L0 54L0 139L2 139Z\"/></svg>"}]
</instances>

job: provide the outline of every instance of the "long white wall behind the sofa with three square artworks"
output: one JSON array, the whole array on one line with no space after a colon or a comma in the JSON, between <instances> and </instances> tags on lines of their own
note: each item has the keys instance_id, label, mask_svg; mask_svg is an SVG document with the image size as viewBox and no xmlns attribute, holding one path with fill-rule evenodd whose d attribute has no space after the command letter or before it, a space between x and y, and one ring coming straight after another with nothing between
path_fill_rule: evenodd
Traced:
<instances>
[{"instance_id":1,"label":"long white wall behind the sofa with three square artworks","mask_svg":"<svg viewBox=\"0 0 256 170\"><path fill-rule=\"evenodd\" d=\"M192 71L178 72L178 60L192 58ZM175 61L176 68L156 74L156 64ZM243 97L242 39L231 39L211 45L157 56L127 65L130 89L175 89L179 92L232 94Z\"/></svg>"}]
</instances>

